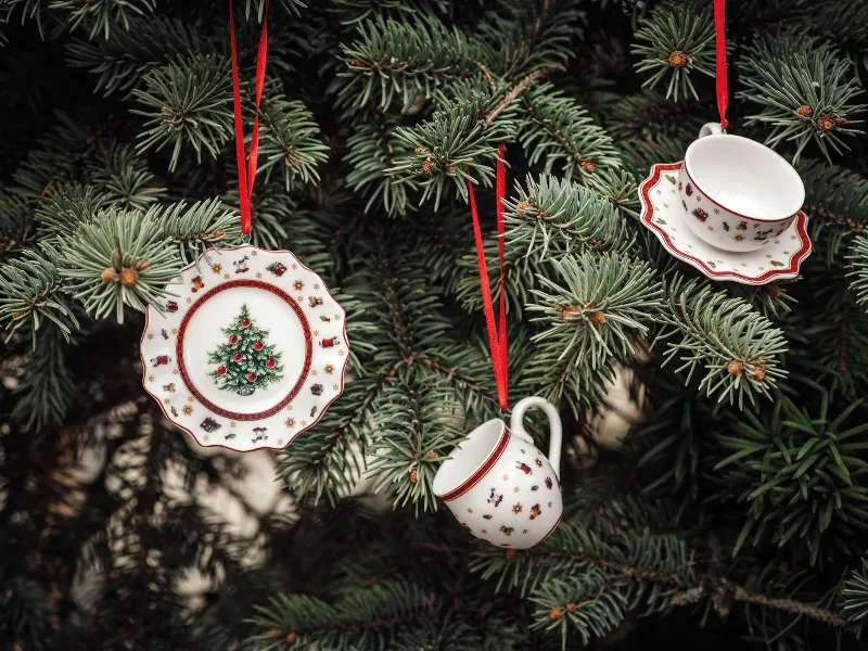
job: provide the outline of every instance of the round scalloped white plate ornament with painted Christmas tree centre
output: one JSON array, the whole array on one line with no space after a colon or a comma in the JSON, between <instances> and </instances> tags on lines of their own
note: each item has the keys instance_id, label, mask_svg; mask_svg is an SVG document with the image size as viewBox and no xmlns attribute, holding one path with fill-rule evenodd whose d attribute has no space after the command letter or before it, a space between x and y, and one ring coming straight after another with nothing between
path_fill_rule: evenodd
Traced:
<instances>
[{"instance_id":1,"label":"round scalloped white plate ornament with painted Christmas tree centre","mask_svg":"<svg viewBox=\"0 0 868 651\"><path fill-rule=\"evenodd\" d=\"M144 387L202 446L286 447L344 387L344 309L288 251L212 250L149 306Z\"/></svg>"}]
</instances>

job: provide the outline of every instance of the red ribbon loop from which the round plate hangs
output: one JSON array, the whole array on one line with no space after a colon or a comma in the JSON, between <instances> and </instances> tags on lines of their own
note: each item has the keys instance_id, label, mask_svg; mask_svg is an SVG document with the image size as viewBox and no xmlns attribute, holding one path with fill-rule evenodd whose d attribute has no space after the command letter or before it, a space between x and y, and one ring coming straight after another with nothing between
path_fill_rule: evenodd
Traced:
<instances>
[{"instance_id":1,"label":"red ribbon loop from which the round plate hangs","mask_svg":"<svg viewBox=\"0 0 868 651\"><path fill-rule=\"evenodd\" d=\"M229 42L232 49L232 100L235 112L235 158L238 162L238 194L241 202L241 232L251 233L251 197L256 177L256 163L259 157L259 102L265 86L265 62L268 50L268 0L263 14L263 34L259 37L259 51L256 54L256 118L253 120L250 158L245 164L244 127L241 117L241 89L238 75L238 50L235 47L235 15L232 0L229 0Z\"/></svg>"}]
</instances>

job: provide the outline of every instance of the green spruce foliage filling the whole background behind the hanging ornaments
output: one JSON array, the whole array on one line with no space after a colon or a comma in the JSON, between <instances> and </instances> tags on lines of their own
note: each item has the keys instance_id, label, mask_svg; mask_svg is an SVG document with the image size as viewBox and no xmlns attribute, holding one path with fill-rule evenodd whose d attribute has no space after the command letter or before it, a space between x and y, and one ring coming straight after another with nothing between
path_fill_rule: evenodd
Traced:
<instances>
[{"instance_id":1,"label":"green spruce foliage filling the whole background behind the hanging ornaments","mask_svg":"<svg viewBox=\"0 0 868 651\"><path fill-rule=\"evenodd\" d=\"M267 4L234 8L247 144ZM0 2L0 649L860 649L868 4L728 5L730 132L795 162L814 246L758 288L637 220L717 117L711 2L271 2L251 239L322 276L350 352L315 427L240 458L165 420L136 349L242 242L228 2ZM511 399L564 419L563 521L522 551L432 490L499 414L471 183ZM291 370L248 317L213 354L235 388Z\"/></svg>"}]
</instances>

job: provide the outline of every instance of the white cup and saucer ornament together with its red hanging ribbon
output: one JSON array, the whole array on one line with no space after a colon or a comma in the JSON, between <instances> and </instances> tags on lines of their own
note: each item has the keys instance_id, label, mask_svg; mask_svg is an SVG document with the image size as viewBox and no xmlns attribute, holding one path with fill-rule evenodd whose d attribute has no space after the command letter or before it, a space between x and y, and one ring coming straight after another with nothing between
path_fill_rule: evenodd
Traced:
<instances>
[{"instance_id":1,"label":"white cup and saucer ornament together with its red hanging ribbon","mask_svg":"<svg viewBox=\"0 0 868 651\"><path fill-rule=\"evenodd\" d=\"M726 132L724 0L715 0L720 124L702 127L684 161L639 186L641 222L709 278L760 285L794 278L810 253L799 173L764 144Z\"/></svg>"}]
</instances>

